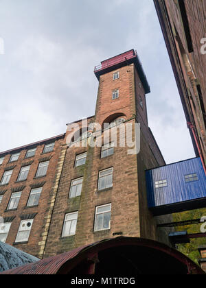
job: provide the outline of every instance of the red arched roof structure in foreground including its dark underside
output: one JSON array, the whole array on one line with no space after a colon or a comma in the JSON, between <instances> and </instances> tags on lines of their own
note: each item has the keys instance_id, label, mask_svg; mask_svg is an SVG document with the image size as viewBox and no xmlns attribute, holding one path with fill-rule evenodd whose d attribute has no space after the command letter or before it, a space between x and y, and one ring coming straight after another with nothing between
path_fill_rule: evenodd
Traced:
<instances>
[{"instance_id":1,"label":"red arched roof structure in foreground including its dark underside","mask_svg":"<svg viewBox=\"0 0 206 288\"><path fill-rule=\"evenodd\" d=\"M205 274L192 260L148 239L117 237L30 263L3 274Z\"/></svg>"}]
</instances>

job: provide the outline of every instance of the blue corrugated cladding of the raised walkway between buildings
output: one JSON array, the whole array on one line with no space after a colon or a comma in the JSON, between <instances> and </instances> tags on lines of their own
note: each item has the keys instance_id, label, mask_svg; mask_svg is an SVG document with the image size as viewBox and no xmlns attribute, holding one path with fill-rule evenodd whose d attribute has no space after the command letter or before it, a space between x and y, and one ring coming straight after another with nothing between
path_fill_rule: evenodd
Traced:
<instances>
[{"instance_id":1,"label":"blue corrugated cladding of the raised walkway between buildings","mask_svg":"<svg viewBox=\"0 0 206 288\"><path fill-rule=\"evenodd\" d=\"M196 173L198 180L185 182ZM155 182L167 180L168 186L155 188ZM149 208L206 197L206 178L200 158L146 171Z\"/></svg>"}]
</instances>

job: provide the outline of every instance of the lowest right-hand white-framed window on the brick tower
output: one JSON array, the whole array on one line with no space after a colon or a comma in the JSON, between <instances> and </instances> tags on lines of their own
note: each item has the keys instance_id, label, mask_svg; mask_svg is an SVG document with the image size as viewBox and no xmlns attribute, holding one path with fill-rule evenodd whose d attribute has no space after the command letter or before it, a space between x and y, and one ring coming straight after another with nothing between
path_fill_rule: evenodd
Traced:
<instances>
[{"instance_id":1,"label":"lowest right-hand white-framed window on the brick tower","mask_svg":"<svg viewBox=\"0 0 206 288\"><path fill-rule=\"evenodd\" d=\"M96 207L95 211L95 231L110 229L111 204Z\"/></svg>"}]
</instances>

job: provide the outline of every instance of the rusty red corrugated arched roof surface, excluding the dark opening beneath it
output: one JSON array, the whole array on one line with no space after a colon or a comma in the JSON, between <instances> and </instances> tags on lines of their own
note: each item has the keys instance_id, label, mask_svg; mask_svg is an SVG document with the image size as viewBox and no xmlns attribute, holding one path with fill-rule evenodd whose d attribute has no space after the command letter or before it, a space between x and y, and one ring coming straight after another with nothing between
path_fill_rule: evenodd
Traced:
<instances>
[{"instance_id":1,"label":"rusty red corrugated arched roof surface, excluding the dark opening beneath it","mask_svg":"<svg viewBox=\"0 0 206 288\"><path fill-rule=\"evenodd\" d=\"M64 274L62 271L65 267L66 272L68 273L73 269L73 267L82 263L84 259L88 259L91 255L97 252L128 245L134 246L134 249L135 247L144 247L152 248L157 252L163 252L174 257L174 259L185 265L189 272L194 271L196 274L204 274L201 268L177 250L157 241L132 237L117 237L115 239L106 239L89 245L84 245L72 251L65 252L64 254L52 256L36 263L30 263L16 269L5 271L3 274Z\"/></svg>"}]
</instances>

